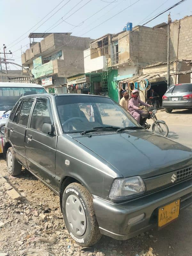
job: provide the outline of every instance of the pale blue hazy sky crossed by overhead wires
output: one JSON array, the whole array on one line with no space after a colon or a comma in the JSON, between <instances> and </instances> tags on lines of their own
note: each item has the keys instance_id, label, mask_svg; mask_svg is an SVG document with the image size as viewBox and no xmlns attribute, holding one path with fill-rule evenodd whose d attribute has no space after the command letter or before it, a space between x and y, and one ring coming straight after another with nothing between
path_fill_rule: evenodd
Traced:
<instances>
[{"instance_id":1,"label":"pale blue hazy sky crossed by overhead wires","mask_svg":"<svg viewBox=\"0 0 192 256\"><path fill-rule=\"evenodd\" d=\"M96 39L122 31L127 22L132 22L133 27L143 25L177 2L179 0L0 0L0 52L5 44L7 52L13 53L8 55L14 59L12 62L21 65L21 51L29 48L30 32L72 32L73 36ZM192 1L185 0L170 12L172 21L192 15ZM165 12L146 26L166 22L168 14L169 11ZM9 69L16 68L9 65Z\"/></svg>"}]
</instances>

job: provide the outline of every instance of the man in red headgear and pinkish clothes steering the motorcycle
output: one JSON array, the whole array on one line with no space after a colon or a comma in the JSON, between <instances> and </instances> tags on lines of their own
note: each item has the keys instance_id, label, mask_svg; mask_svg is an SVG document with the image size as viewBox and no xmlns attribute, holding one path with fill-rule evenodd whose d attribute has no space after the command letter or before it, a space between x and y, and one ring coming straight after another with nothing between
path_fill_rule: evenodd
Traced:
<instances>
[{"instance_id":1,"label":"man in red headgear and pinkish clothes steering the motorcycle","mask_svg":"<svg viewBox=\"0 0 192 256\"><path fill-rule=\"evenodd\" d=\"M148 112L146 113L145 111L141 110L141 108L139 107L139 104L146 107L151 107L151 105L139 99L139 91L137 89L131 92L131 96L132 98L129 100L129 108L128 108L129 113L135 118L135 120L138 123L140 123L140 117L147 116Z\"/></svg>"}]
</instances>

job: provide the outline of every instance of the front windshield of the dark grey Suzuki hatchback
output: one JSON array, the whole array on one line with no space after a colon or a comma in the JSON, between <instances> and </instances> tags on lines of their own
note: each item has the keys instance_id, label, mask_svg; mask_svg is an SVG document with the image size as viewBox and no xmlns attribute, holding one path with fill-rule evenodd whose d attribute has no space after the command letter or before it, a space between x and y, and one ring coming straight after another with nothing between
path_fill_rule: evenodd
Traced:
<instances>
[{"instance_id":1,"label":"front windshield of the dark grey Suzuki hatchback","mask_svg":"<svg viewBox=\"0 0 192 256\"><path fill-rule=\"evenodd\" d=\"M110 98L58 96L56 105L64 132L138 126L136 120Z\"/></svg>"}]
</instances>

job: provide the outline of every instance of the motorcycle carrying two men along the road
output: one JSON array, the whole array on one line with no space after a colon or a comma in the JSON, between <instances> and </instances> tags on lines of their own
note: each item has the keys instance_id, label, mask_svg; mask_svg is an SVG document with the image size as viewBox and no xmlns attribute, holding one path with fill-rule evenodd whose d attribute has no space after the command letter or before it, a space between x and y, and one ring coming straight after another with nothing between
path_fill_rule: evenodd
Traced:
<instances>
[{"instance_id":1,"label":"motorcycle carrying two men along the road","mask_svg":"<svg viewBox=\"0 0 192 256\"><path fill-rule=\"evenodd\" d=\"M152 124L152 131L163 135L164 137L167 137L168 133L169 133L169 128L168 126L165 124L165 121L163 120L158 120L156 117L156 113L157 110L154 107L143 107L141 109L145 109L146 112L148 112L148 115L142 116L141 114L141 118L140 118L140 125L142 125L146 130L148 130L151 125L148 124L146 121L147 119L152 119L153 120L153 124Z\"/></svg>"}]
</instances>

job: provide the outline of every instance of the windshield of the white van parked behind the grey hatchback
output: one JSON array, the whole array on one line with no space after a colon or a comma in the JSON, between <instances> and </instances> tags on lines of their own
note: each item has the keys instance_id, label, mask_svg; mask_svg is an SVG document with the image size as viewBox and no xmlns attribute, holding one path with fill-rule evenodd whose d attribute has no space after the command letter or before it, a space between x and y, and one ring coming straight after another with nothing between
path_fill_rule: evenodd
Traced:
<instances>
[{"instance_id":1,"label":"windshield of the white van parked behind the grey hatchback","mask_svg":"<svg viewBox=\"0 0 192 256\"><path fill-rule=\"evenodd\" d=\"M44 88L36 87L0 87L0 110L12 108L21 96L46 93Z\"/></svg>"}]
</instances>

